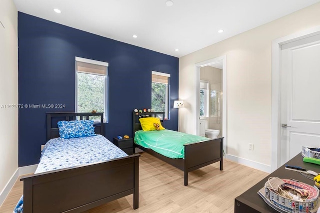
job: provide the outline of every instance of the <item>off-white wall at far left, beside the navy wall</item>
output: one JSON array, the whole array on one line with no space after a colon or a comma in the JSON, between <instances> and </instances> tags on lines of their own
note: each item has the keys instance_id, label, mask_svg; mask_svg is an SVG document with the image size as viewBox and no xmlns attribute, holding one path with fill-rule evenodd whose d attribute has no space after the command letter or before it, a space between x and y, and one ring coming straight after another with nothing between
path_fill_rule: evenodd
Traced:
<instances>
[{"instance_id":1,"label":"off-white wall at far left, beside the navy wall","mask_svg":"<svg viewBox=\"0 0 320 213\"><path fill-rule=\"evenodd\" d=\"M18 103L17 10L13 0L0 6L0 198L18 168L18 110L3 105ZM1 205L1 199L0 199Z\"/></svg>"}]
</instances>

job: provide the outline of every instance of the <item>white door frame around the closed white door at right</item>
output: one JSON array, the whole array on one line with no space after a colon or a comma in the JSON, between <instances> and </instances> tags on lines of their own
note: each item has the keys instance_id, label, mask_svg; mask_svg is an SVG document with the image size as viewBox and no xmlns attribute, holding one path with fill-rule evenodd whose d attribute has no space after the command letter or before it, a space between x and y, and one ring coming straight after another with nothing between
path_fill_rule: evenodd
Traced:
<instances>
[{"instance_id":1,"label":"white door frame around the closed white door at right","mask_svg":"<svg viewBox=\"0 0 320 213\"><path fill-rule=\"evenodd\" d=\"M320 34L320 26L293 33L272 41L272 97L271 97L271 172L279 165L279 143L281 131L281 45Z\"/></svg>"}]
</instances>

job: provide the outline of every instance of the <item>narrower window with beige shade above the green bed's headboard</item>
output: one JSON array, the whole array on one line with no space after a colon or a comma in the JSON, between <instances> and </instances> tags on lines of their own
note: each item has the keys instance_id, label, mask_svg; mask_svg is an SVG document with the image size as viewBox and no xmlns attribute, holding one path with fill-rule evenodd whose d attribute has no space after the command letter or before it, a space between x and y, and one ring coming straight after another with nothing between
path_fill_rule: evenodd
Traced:
<instances>
[{"instance_id":1,"label":"narrower window with beige shade above the green bed's headboard","mask_svg":"<svg viewBox=\"0 0 320 213\"><path fill-rule=\"evenodd\" d=\"M170 74L152 71L151 109L165 112L164 119L168 119L169 114L169 78Z\"/></svg>"}]
</instances>

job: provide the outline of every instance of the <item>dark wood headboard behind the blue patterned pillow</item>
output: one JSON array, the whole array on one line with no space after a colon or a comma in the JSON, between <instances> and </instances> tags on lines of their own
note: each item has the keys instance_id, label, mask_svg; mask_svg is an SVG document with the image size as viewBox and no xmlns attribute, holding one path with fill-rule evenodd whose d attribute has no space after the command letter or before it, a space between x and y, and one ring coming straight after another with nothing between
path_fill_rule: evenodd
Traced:
<instances>
[{"instance_id":1,"label":"dark wood headboard behind the blue patterned pillow","mask_svg":"<svg viewBox=\"0 0 320 213\"><path fill-rule=\"evenodd\" d=\"M79 117L80 120L89 120L90 116L99 116L100 121L94 123L94 133L103 135L103 112L47 112L46 113L46 140L58 138L58 121L74 121Z\"/></svg>"}]
</instances>

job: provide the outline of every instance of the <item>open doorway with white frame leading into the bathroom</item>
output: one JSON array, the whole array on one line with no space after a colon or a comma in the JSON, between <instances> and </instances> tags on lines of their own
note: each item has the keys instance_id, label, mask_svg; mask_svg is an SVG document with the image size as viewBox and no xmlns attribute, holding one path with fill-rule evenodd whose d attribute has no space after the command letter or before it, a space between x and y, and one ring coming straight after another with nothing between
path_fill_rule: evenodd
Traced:
<instances>
[{"instance_id":1,"label":"open doorway with white frame leading into the bathroom","mask_svg":"<svg viewBox=\"0 0 320 213\"><path fill-rule=\"evenodd\" d=\"M196 76L197 135L226 139L225 56L196 64Z\"/></svg>"}]
</instances>

